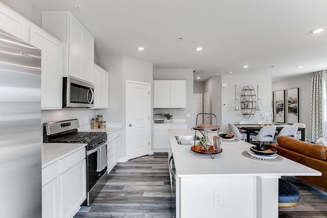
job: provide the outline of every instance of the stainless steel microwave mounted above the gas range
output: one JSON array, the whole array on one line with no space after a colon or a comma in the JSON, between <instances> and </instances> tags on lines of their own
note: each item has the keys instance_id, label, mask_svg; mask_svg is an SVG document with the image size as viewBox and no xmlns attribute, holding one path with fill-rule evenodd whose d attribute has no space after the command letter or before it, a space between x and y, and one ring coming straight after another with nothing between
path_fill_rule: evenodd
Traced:
<instances>
[{"instance_id":1,"label":"stainless steel microwave mounted above the gas range","mask_svg":"<svg viewBox=\"0 0 327 218\"><path fill-rule=\"evenodd\" d=\"M94 107L94 85L72 77L63 77L62 83L63 108Z\"/></svg>"}]
</instances>

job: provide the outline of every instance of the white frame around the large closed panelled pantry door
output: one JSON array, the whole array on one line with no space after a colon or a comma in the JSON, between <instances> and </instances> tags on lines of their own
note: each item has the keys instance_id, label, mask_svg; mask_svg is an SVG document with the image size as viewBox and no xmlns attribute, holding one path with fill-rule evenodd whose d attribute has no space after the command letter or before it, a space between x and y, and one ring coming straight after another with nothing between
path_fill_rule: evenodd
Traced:
<instances>
[{"instance_id":1,"label":"white frame around the large closed panelled pantry door","mask_svg":"<svg viewBox=\"0 0 327 218\"><path fill-rule=\"evenodd\" d=\"M127 113L129 111L129 109L127 108L127 94L128 94L128 84L129 83L134 83L134 84L139 84L139 85L148 85L149 86L149 105L148 105L148 110L149 110L149 119L148 119L148 129L149 129L149 141L150 141L150 144L149 144L149 151L148 151L148 154L151 154L152 152L152 134L151 134L151 83L146 83L146 82L139 82L139 81L133 81L133 80L126 80L126 86L125 86L125 128L126 128L126 135L125 135L125 142L126 142L126 157L127 157L127 160L129 160L131 158L130 156L130 153L131 151L129 150L129 147L127 146L127 137L128 137L128 134L127 134L127 126L128 126L128 120L127 120Z\"/></svg>"}]
</instances>

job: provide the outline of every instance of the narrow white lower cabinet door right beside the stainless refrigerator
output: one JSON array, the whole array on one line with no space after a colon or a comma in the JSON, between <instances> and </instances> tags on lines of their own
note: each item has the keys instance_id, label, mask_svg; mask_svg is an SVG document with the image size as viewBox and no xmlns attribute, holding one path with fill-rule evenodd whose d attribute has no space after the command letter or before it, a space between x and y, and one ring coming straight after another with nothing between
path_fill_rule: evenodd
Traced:
<instances>
[{"instance_id":1,"label":"narrow white lower cabinet door right beside the stainless refrigerator","mask_svg":"<svg viewBox=\"0 0 327 218\"><path fill-rule=\"evenodd\" d=\"M42 217L59 217L59 177L42 186Z\"/></svg>"}]
</instances>

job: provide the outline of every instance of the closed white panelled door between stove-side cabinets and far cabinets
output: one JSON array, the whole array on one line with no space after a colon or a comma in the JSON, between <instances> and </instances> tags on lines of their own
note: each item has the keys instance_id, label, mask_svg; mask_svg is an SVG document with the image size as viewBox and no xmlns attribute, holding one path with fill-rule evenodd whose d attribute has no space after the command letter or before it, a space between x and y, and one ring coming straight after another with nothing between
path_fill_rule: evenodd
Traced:
<instances>
[{"instance_id":1,"label":"closed white panelled door between stove-side cabinets and far cabinets","mask_svg":"<svg viewBox=\"0 0 327 218\"><path fill-rule=\"evenodd\" d=\"M150 83L126 81L127 158L150 154Z\"/></svg>"}]
</instances>

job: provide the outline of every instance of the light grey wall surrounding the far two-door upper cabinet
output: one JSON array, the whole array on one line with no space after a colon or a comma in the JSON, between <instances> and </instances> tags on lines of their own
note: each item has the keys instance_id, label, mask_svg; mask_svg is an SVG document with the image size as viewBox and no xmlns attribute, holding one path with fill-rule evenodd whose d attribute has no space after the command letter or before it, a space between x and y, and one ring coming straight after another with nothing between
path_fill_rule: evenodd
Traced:
<instances>
[{"instance_id":1,"label":"light grey wall surrounding the far two-door upper cabinet","mask_svg":"<svg viewBox=\"0 0 327 218\"><path fill-rule=\"evenodd\" d=\"M193 69L153 69L154 80L186 80L186 108L162 109L163 113L172 113L174 119L185 119L189 128L193 127ZM153 89L152 89L153 90ZM191 114L186 118L186 113Z\"/></svg>"}]
</instances>

